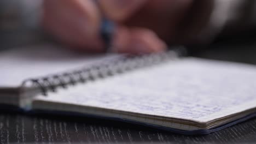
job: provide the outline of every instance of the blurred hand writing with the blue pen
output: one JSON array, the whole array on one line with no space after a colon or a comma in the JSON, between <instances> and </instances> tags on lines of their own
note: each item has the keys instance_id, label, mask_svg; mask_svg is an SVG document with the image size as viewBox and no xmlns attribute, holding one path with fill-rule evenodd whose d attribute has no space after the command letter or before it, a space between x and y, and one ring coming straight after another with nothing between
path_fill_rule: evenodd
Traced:
<instances>
[{"instance_id":1,"label":"blurred hand writing with the blue pen","mask_svg":"<svg viewBox=\"0 0 256 144\"><path fill-rule=\"evenodd\" d=\"M209 3L198 0L201 3ZM90 52L103 52L101 13L118 24L113 51L150 53L166 49L166 43L190 43L189 35L202 26L205 14L187 19L194 0L44 0L43 25L63 44ZM198 4L197 4L198 5ZM100 9L99 7L100 6ZM207 9L206 7L205 9ZM207 16L205 16L207 17ZM190 22L190 23L187 23ZM191 29L193 31L191 31ZM188 37L184 37L188 35Z\"/></svg>"}]
</instances>

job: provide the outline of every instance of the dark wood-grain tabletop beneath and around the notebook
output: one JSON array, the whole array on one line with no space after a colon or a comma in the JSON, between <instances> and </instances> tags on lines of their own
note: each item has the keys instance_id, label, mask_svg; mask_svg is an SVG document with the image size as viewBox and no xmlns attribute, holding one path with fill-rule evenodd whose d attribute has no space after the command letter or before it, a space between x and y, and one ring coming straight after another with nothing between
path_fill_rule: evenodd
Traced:
<instances>
[{"instance_id":1,"label":"dark wood-grain tabletop beneath and around the notebook","mask_svg":"<svg viewBox=\"0 0 256 144\"><path fill-rule=\"evenodd\" d=\"M214 46L197 56L256 64L255 45ZM256 118L208 135L187 136L123 122L0 112L0 143L255 143Z\"/></svg>"}]
</instances>

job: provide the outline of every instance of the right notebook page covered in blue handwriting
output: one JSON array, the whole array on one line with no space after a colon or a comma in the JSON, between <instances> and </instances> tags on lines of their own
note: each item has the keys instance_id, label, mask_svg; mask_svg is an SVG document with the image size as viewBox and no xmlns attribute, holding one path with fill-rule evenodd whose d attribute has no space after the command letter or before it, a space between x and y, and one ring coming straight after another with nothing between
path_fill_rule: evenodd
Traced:
<instances>
[{"instance_id":1,"label":"right notebook page covered in blue handwriting","mask_svg":"<svg viewBox=\"0 0 256 144\"><path fill-rule=\"evenodd\" d=\"M185 58L35 100L206 123L256 107L255 86L252 65Z\"/></svg>"}]
</instances>

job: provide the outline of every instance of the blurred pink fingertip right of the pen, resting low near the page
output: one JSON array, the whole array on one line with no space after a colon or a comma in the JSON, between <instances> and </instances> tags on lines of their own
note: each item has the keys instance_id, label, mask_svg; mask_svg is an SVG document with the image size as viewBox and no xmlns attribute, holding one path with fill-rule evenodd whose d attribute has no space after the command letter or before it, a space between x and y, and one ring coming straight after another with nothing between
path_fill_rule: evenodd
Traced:
<instances>
[{"instance_id":1,"label":"blurred pink fingertip right of the pen, resting low near the page","mask_svg":"<svg viewBox=\"0 0 256 144\"><path fill-rule=\"evenodd\" d=\"M160 52L166 49L164 41L145 28L118 28L113 39L113 51L119 53L143 54Z\"/></svg>"}]
</instances>

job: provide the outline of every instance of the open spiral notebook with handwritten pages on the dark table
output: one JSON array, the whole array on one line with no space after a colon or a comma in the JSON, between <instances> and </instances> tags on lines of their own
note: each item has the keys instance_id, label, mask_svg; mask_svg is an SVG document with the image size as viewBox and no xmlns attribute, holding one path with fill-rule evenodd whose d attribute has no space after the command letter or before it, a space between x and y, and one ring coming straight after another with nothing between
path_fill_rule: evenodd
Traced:
<instances>
[{"instance_id":1,"label":"open spiral notebook with handwritten pages on the dark table","mask_svg":"<svg viewBox=\"0 0 256 144\"><path fill-rule=\"evenodd\" d=\"M0 53L0 103L208 134L256 112L256 66L179 57L83 55L53 45Z\"/></svg>"}]
</instances>

